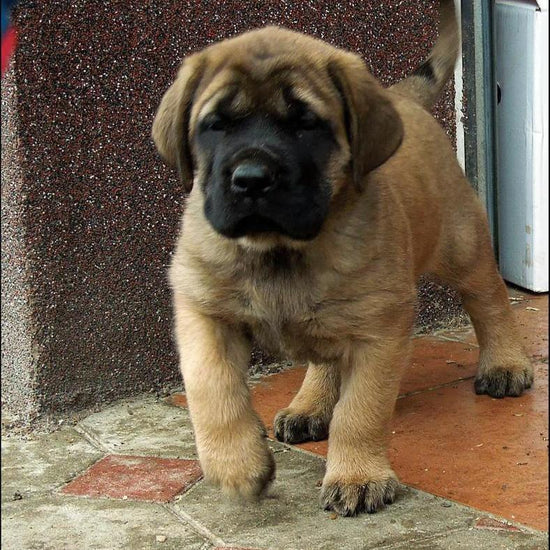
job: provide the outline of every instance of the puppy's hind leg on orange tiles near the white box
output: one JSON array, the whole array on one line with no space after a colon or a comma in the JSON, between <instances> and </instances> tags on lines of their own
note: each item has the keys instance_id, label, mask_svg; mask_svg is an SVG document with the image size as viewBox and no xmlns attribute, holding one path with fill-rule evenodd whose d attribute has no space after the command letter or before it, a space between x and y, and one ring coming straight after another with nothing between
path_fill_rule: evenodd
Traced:
<instances>
[{"instance_id":1,"label":"puppy's hind leg on orange tiles near the white box","mask_svg":"<svg viewBox=\"0 0 550 550\"><path fill-rule=\"evenodd\" d=\"M471 213L477 223L457 234L437 274L460 292L475 328L480 348L476 393L519 396L533 383L533 367L498 272L485 215L480 208Z\"/></svg>"}]
</instances>

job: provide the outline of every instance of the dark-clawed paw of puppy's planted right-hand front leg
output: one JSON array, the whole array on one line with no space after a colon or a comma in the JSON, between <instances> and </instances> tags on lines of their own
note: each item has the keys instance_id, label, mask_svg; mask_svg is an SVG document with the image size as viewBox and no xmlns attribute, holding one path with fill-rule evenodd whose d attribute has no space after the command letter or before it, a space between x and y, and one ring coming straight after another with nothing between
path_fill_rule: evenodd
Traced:
<instances>
[{"instance_id":1,"label":"dark-clawed paw of puppy's planted right-hand front leg","mask_svg":"<svg viewBox=\"0 0 550 550\"><path fill-rule=\"evenodd\" d=\"M341 516L373 514L391 504L398 489L399 481L393 476L364 483L323 483L321 504L325 510L334 510Z\"/></svg>"}]
</instances>

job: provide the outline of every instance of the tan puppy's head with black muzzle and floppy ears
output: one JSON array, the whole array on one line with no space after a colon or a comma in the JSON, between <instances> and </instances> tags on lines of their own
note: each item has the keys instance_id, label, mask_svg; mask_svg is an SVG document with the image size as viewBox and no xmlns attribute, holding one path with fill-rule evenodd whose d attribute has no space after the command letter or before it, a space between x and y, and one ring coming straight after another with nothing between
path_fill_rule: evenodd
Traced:
<instances>
[{"instance_id":1,"label":"tan puppy's head with black muzzle and floppy ears","mask_svg":"<svg viewBox=\"0 0 550 550\"><path fill-rule=\"evenodd\" d=\"M401 138L360 58L275 27L186 58L153 124L159 152L229 238L315 238L342 186L360 188Z\"/></svg>"}]
</instances>

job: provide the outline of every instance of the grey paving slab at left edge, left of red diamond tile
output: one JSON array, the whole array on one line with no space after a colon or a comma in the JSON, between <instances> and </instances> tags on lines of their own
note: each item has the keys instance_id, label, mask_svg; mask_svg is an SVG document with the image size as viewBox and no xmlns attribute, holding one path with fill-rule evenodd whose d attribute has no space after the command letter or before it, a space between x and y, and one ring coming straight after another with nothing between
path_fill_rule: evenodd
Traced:
<instances>
[{"instance_id":1,"label":"grey paving slab at left edge, left of red diamond tile","mask_svg":"<svg viewBox=\"0 0 550 550\"><path fill-rule=\"evenodd\" d=\"M2 502L52 491L102 456L73 428L31 440L3 437Z\"/></svg>"}]
</instances>

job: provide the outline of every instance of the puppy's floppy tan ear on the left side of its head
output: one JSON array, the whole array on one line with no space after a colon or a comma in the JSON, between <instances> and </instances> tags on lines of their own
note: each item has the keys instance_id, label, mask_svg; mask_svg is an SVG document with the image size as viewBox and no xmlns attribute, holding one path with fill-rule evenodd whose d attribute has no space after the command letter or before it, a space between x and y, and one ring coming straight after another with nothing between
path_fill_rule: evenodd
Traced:
<instances>
[{"instance_id":1,"label":"puppy's floppy tan ear on the left side of its head","mask_svg":"<svg viewBox=\"0 0 550 550\"><path fill-rule=\"evenodd\" d=\"M162 97L153 121L153 141L166 163L177 168L186 191L193 187L189 117L202 72L199 55L186 58L174 83Z\"/></svg>"}]
</instances>

